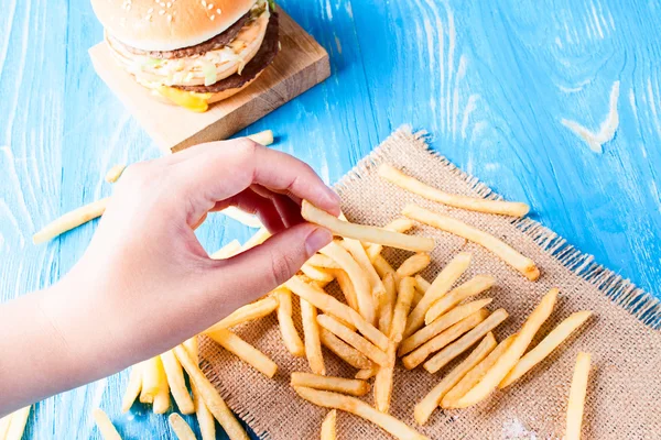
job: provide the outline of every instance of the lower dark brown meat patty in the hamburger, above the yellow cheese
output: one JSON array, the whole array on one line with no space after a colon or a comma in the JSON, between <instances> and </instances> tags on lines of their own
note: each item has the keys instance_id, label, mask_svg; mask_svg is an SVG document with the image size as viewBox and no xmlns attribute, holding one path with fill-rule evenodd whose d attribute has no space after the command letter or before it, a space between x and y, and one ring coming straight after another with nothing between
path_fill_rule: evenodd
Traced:
<instances>
[{"instance_id":1,"label":"lower dark brown meat patty in the hamburger, above the yellow cheese","mask_svg":"<svg viewBox=\"0 0 661 440\"><path fill-rule=\"evenodd\" d=\"M260 72L262 72L278 55L280 44L278 40L278 13L271 13L264 40L257 51L257 54L246 64L241 70L241 75L234 74L225 79L220 79L210 86L172 86L180 90L196 91L199 94L216 94L228 89L236 89L252 80Z\"/></svg>"}]
</instances>

